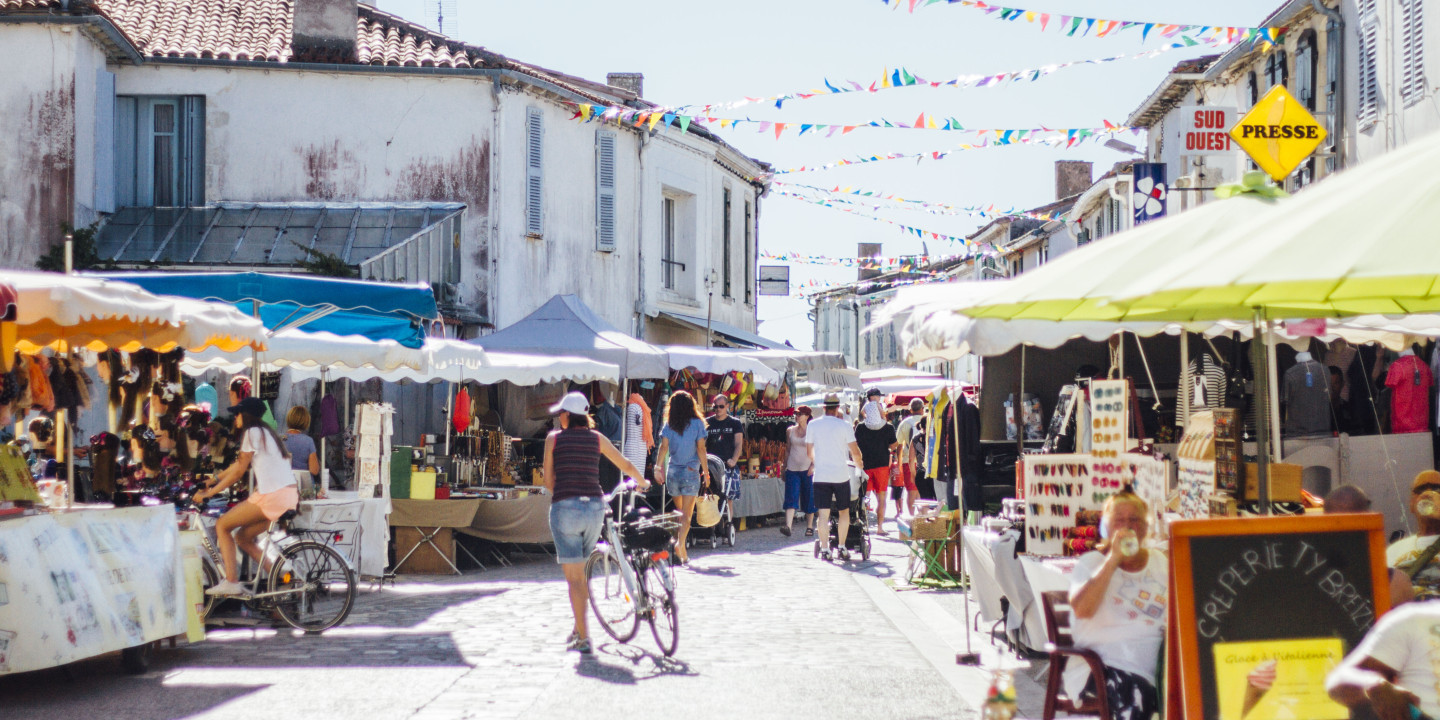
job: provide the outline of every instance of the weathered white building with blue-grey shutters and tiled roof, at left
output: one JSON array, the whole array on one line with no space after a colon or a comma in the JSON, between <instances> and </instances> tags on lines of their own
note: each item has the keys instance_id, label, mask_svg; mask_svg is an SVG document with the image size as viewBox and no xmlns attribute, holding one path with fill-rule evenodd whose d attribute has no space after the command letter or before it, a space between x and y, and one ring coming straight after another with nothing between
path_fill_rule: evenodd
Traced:
<instances>
[{"instance_id":1,"label":"weathered white building with blue-grey shutters and tiled roof, at left","mask_svg":"<svg viewBox=\"0 0 1440 720\"><path fill-rule=\"evenodd\" d=\"M0 62L13 71L0 79L0 125L23 128L0 137L0 266L32 268L62 225L98 222L105 238L105 223L134 209L148 220L102 242L124 240L121 266L287 272L291 248L278 238L245 262L239 251L179 253L174 238L217 203L321 203L311 246L370 258L386 248L364 238L389 242L392 228L344 206L462 203L432 233L448 243L366 265L364 276L454 294L469 311L456 328L467 337L556 294L660 341L704 344L703 330L671 315L707 311L753 333L765 166L703 131L572 120L580 102L648 107L632 89L510 60L354 0L249 3L222 37L196 32L215 20L207 6L174 7L0 0ZM145 12L176 17L145 24ZM196 212L167 226L176 207Z\"/></svg>"}]
</instances>

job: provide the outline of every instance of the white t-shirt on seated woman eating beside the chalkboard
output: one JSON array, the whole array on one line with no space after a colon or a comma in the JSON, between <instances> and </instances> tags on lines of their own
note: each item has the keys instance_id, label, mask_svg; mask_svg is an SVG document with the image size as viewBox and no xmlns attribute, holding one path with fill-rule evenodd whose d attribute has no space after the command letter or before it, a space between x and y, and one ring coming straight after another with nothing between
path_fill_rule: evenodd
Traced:
<instances>
[{"instance_id":1,"label":"white t-shirt on seated woman eating beside the chalkboard","mask_svg":"<svg viewBox=\"0 0 1440 720\"><path fill-rule=\"evenodd\" d=\"M1138 573L1116 569L1100 609L1089 619L1071 618L1076 645L1100 655L1106 665L1135 672L1155 683L1161 644L1165 641L1165 596L1169 564L1158 550ZM1094 577L1104 566L1104 553L1080 556L1070 573L1070 592ZM1083 665L1083 664L1081 664Z\"/></svg>"}]
</instances>

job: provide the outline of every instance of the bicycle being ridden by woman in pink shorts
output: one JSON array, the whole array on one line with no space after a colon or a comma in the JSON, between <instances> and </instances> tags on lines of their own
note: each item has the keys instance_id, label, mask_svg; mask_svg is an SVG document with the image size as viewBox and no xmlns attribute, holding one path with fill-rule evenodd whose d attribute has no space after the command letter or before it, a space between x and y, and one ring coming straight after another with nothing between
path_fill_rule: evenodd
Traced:
<instances>
[{"instance_id":1,"label":"bicycle being ridden by woman in pink shorts","mask_svg":"<svg viewBox=\"0 0 1440 720\"><path fill-rule=\"evenodd\" d=\"M261 563L255 575L245 580L246 593L238 596L246 608L259 613L276 612L289 626L320 634L344 622L354 606L356 576L336 549L315 540L302 540L289 528L294 510L285 511L261 533L255 541L261 546ZM197 528L204 553L200 556L204 573L204 588L209 589L225 577L225 560L215 541L216 518L206 516L196 505L181 513L181 527ZM228 598L206 595L204 615L207 621L215 608Z\"/></svg>"}]
</instances>

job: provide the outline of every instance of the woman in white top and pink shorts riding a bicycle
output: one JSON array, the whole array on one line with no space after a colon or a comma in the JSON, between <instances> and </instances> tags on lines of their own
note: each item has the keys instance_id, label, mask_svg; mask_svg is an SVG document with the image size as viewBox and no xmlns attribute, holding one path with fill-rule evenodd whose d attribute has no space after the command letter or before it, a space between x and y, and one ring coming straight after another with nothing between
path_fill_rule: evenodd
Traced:
<instances>
[{"instance_id":1,"label":"woman in white top and pink shorts riding a bicycle","mask_svg":"<svg viewBox=\"0 0 1440 720\"><path fill-rule=\"evenodd\" d=\"M215 475L213 487L194 494L194 503L199 504L220 494L252 468L255 469L255 492L251 492L245 503L220 516L215 526L216 539L220 543L220 557L225 559L225 580L204 590L206 595L243 593L245 588L239 583L235 547L239 546L245 554L259 563L261 549L255 544L255 539L287 510L295 510L295 505L300 504L300 491L295 488L295 475L289 469L289 451L285 449L285 441L261 420L265 416L265 403L259 397L245 397L230 408L230 413L235 415L235 428L240 431L240 455L233 465Z\"/></svg>"}]
</instances>

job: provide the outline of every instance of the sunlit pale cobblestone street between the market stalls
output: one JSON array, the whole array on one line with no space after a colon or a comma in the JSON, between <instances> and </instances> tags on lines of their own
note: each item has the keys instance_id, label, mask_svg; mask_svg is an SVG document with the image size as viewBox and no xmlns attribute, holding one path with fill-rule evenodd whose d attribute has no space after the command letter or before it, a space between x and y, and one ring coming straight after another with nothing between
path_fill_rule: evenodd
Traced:
<instances>
[{"instance_id":1,"label":"sunlit pale cobblestone street between the market stalls","mask_svg":"<svg viewBox=\"0 0 1440 720\"><path fill-rule=\"evenodd\" d=\"M323 636L212 631L161 651L151 671L115 657L0 680L4 713L58 719L634 719L978 717L988 672L963 649L955 592L904 585L906 549L878 539L870 563L827 564L775 527L733 550L696 550L678 573L680 649L648 626L592 658L564 651L559 569L540 556L461 577L405 577L364 592ZM986 665L998 658L975 638ZM1011 657L1011 662L1014 658ZM1038 687L1020 677L1022 714Z\"/></svg>"}]
</instances>

